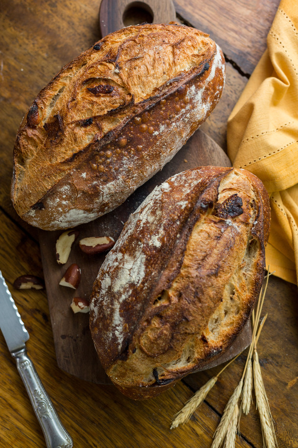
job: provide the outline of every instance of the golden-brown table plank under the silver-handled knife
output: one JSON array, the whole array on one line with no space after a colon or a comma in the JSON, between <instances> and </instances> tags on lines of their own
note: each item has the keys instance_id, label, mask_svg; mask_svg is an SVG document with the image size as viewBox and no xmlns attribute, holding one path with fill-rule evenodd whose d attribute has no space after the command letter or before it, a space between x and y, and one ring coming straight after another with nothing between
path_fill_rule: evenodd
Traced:
<instances>
[{"instance_id":1,"label":"golden-brown table plank under the silver-handled knife","mask_svg":"<svg viewBox=\"0 0 298 448\"><path fill-rule=\"evenodd\" d=\"M207 404L188 427L169 429L173 414L191 395L183 383L155 399L137 402L124 397L112 385L94 385L58 368L45 292L19 291L11 286L20 274L42 275L38 245L1 213L0 220L0 268L30 334L29 356L74 447L210 447L219 417ZM43 447L42 431L1 333L0 358L2 444L13 448ZM236 446L249 447L244 441Z\"/></svg>"}]
</instances>

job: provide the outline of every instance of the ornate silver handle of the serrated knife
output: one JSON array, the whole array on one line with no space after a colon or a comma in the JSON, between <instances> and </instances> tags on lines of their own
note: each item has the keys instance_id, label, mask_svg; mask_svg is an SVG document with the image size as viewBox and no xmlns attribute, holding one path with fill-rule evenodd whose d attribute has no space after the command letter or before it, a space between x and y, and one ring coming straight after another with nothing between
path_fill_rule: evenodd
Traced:
<instances>
[{"instance_id":1,"label":"ornate silver handle of the serrated knife","mask_svg":"<svg viewBox=\"0 0 298 448\"><path fill-rule=\"evenodd\" d=\"M66 432L45 391L26 348L12 353L28 392L34 412L43 430L48 448L72 448L73 441Z\"/></svg>"}]
</instances>

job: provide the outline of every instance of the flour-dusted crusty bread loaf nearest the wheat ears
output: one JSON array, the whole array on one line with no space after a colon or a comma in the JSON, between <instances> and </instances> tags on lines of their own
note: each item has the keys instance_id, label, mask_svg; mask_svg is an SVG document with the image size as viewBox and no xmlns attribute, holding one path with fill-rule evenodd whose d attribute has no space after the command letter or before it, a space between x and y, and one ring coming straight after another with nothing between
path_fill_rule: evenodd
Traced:
<instances>
[{"instance_id":1,"label":"flour-dusted crusty bread loaf nearest the wheat ears","mask_svg":"<svg viewBox=\"0 0 298 448\"><path fill-rule=\"evenodd\" d=\"M93 286L90 329L113 383L148 398L224 353L258 298L268 194L248 171L201 167L156 187Z\"/></svg>"}]
</instances>

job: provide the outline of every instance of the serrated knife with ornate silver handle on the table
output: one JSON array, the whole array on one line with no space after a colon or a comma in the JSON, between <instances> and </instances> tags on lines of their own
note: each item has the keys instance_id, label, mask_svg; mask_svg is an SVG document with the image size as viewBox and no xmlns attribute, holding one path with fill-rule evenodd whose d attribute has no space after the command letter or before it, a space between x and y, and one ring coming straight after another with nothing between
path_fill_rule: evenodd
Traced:
<instances>
[{"instance_id":1,"label":"serrated knife with ornate silver handle on the table","mask_svg":"<svg viewBox=\"0 0 298 448\"><path fill-rule=\"evenodd\" d=\"M18 372L31 400L34 412L43 430L48 448L72 448L73 441L66 432L46 393L33 363L27 355L25 329L13 298L0 271L0 329L8 349L16 361Z\"/></svg>"}]
</instances>

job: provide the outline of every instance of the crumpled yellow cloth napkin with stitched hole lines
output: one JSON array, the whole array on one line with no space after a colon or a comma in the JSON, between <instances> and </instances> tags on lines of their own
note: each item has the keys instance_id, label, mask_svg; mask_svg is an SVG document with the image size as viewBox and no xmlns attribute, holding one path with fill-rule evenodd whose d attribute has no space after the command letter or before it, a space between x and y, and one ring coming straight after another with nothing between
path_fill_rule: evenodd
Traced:
<instances>
[{"instance_id":1,"label":"crumpled yellow cloth napkin with stitched hole lines","mask_svg":"<svg viewBox=\"0 0 298 448\"><path fill-rule=\"evenodd\" d=\"M266 266L298 278L298 1L282 0L267 50L227 124L228 155L264 183L271 206Z\"/></svg>"}]
</instances>

